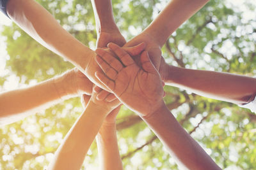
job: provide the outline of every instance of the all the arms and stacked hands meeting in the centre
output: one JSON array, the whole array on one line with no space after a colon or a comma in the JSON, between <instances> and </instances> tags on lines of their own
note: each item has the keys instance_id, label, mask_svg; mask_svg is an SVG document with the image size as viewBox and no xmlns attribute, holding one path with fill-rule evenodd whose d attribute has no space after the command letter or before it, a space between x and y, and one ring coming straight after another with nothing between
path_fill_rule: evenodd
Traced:
<instances>
[{"instance_id":1,"label":"all the arms and stacked hands meeting in the centre","mask_svg":"<svg viewBox=\"0 0 256 170\"><path fill-rule=\"evenodd\" d=\"M120 104L147 123L180 167L220 169L163 101L164 83L238 104L255 97L253 78L182 69L164 62L161 48L168 37L207 1L170 1L152 24L126 42L113 19L111 1L92 0L98 34L98 48L93 51L65 31L40 4L9 0L8 16L76 68L35 86L1 93L1 122L15 122L31 110L83 94L85 110L58 148L49 169L80 169L95 136L101 168L122 169L115 128Z\"/></svg>"}]
</instances>

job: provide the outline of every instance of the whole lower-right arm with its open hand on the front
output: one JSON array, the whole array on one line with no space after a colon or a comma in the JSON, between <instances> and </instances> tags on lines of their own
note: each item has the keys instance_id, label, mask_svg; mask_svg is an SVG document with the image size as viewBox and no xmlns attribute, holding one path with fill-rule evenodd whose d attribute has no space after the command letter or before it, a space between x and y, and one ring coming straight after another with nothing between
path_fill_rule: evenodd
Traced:
<instances>
[{"instance_id":1,"label":"whole lower-right arm with its open hand on the front","mask_svg":"<svg viewBox=\"0 0 256 170\"><path fill-rule=\"evenodd\" d=\"M180 167L220 169L165 106L161 77L147 52L141 53L142 67L139 67L119 46L110 43L108 47L115 52L122 64L104 50L97 49L100 57L96 59L105 73L96 72L97 78L127 108L143 118Z\"/></svg>"}]
</instances>

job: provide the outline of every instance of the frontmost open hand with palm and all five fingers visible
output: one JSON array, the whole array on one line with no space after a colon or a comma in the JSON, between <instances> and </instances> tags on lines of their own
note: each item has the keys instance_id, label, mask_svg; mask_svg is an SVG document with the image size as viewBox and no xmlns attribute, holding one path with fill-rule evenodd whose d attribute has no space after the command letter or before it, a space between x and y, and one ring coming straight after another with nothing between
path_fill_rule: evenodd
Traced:
<instances>
[{"instance_id":1,"label":"frontmost open hand with palm and all five fingers visible","mask_svg":"<svg viewBox=\"0 0 256 170\"><path fill-rule=\"evenodd\" d=\"M98 48L96 52L99 56L96 60L105 74L97 71L95 76L132 111L142 117L154 113L162 104L164 92L160 75L152 65L148 53L141 53L141 68L118 45L109 43L108 47L121 62Z\"/></svg>"}]
</instances>

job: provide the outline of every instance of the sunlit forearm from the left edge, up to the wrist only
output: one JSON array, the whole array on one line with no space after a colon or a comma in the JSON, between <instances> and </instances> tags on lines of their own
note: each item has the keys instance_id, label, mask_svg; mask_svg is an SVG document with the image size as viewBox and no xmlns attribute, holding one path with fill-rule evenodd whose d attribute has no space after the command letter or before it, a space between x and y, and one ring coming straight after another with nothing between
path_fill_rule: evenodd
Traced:
<instances>
[{"instance_id":1,"label":"sunlit forearm from the left edge, up to the wrist only","mask_svg":"<svg viewBox=\"0 0 256 170\"><path fill-rule=\"evenodd\" d=\"M47 108L67 96L65 76L58 76L23 89L0 94L1 124L24 118L33 110ZM21 114L22 113L22 114ZM6 122L4 121L6 119Z\"/></svg>"}]
</instances>

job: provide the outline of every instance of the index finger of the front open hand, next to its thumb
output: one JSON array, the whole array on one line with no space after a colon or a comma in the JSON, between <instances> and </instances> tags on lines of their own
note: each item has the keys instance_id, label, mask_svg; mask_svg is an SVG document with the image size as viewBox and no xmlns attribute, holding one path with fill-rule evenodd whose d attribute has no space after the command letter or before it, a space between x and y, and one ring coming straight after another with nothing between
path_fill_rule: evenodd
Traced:
<instances>
[{"instance_id":1,"label":"index finger of the front open hand, next to its thumb","mask_svg":"<svg viewBox=\"0 0 256 170\"><path fill-rule=\"evenodd\" d=\"M110 48L111 50L113 50L113 52L115 52L115 54L122 61L124 66L135 64L134 60L132 60L132 57L129 55L129 53L125 52L125 50L123 50L120 46L114 43L109 43L108 48Z\"/></svg>"}]
</instances>

